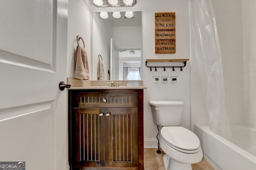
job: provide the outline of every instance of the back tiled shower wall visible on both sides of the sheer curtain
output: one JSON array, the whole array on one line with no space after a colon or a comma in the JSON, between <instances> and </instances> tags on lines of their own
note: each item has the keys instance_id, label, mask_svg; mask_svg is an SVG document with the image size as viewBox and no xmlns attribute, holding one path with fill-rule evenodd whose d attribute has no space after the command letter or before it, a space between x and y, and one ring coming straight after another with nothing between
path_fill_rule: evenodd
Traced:
<instances>
[{"instance_id":1,"label":"back tiled shower wall visible on both sides of the sheer curtain","mask_svg":"<svg viewBox=\"0 0 256 170\"><path fill-rule=\"evenodd\" d=\"M241 125L244 120L241 0L212 0L212 2L222 53L227 113L231 124ZM202 84L196 67L193 42L191 45L191 130L193 131L195 124L207 124L208 117L204 110Z\"/></svg>"}]
</instances>

